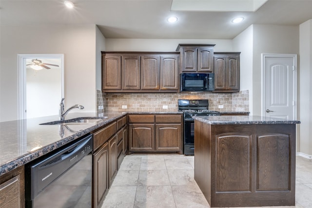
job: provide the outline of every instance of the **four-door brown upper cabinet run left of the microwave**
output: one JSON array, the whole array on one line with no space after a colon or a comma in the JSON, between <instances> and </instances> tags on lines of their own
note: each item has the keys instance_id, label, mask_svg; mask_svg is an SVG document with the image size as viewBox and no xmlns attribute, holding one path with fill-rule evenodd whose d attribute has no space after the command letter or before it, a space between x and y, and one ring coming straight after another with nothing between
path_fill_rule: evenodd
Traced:
<instances>
[{"instance_id":1,"label":"four-door brown upper cabinet run left of the microwave","mask_svg":"<svg viewBox=\"0 0 312 208\"><path fill-rule=\"evenodd\" d=\"M102 52L106 93L177 93L178 53Z\"/></svg>"}]
</instances>

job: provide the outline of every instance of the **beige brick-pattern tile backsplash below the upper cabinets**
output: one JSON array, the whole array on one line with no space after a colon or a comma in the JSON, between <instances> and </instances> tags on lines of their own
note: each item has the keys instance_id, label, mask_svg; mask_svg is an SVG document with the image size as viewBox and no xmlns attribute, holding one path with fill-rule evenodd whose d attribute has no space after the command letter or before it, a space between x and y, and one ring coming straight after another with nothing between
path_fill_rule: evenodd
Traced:
<instances>
[{"instance_id":1,"label":"beige brick-pattern tile backsplash below the upper cabinets","mask_svg":"<svg viewBox=\"0 0 312 208\"><path fill-rule=\"evenodd\" d=\"M102 93L97 91L97 104L104 106L98 113L107 111L120 112L172 112L177 111L178 99L208 99L209 110L214 111L249 111L249 90L239 93ZM127 109L122 109L127 105ZM166 105L168 109L163 109ZM223 109L218 106L223 105Z\"/></svg>"}]
</instances>

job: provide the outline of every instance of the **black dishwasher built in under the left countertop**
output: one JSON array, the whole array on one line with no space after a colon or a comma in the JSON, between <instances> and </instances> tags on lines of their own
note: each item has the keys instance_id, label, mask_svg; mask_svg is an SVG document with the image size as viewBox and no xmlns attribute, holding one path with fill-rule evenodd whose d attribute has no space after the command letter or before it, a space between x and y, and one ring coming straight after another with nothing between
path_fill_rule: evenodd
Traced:
<instances>
[{"instance_id":1,"label":"black dishwasher built in under the left countertop","mask_svg":"<svg viewBox=\"0 0 312 208\"><path fill-rule=\"evenodd\" d=\"M26 208L92 207L93 135L25 166Z\"/></svg>"}]
</instances>

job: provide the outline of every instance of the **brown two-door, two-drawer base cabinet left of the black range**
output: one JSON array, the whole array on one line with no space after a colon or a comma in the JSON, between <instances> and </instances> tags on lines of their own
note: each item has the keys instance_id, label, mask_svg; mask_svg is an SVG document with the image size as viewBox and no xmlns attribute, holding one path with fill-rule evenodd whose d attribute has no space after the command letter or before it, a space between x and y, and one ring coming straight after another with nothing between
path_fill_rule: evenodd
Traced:
<instances>
[{"instance_id":1,"label":"brown two-door, two-drawer base cabinet left of the black range","mask_svg":"<svg viewBox=\"0 0 312 208\"><path fill-rule=\"evenodd\" d=\"M182 115L129 115L129 151L182 153Z\"/></svg>"}]
</instances>

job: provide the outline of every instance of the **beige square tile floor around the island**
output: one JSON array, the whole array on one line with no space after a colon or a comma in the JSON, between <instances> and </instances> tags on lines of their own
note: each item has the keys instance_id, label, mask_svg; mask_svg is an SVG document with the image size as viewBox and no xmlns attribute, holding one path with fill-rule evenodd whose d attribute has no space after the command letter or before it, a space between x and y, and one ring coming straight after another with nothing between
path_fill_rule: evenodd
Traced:
<instances>
[{"instance_id":1,"label":"beige square tile floor around the island","mask_svg":"<svg viewBox=\"0 0 312 208\"><path fill-rule=\"evenodd\" d=\"M194 156L178 154L127 155L102 206L209 207L194 180ZM296 158L296 205L274 208L312 208L312 160Z\"/></svg>"}]
</instances>

